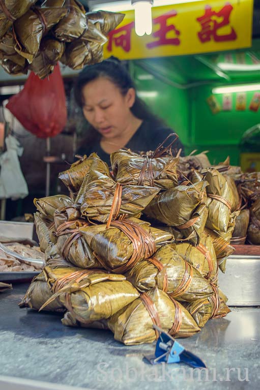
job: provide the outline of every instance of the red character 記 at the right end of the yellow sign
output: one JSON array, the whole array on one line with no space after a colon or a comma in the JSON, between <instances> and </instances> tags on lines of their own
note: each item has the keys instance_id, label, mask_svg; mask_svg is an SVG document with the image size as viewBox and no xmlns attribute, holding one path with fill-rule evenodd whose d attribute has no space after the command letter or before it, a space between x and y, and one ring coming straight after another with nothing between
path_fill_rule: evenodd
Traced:
<instances>
[{"instance_id":1,"label":"red character \u8a18 at the right end of the yellow sign","mask_svg":"<svg viewBox=\"0 0 260 390\"><path fill-rule=\"evenodd\" d=\"M201 24L201 31L198 32L198 38L202 43L209 42L213 38L215 42L235 41L237 39L236 31L230 26L229 34L221 34L218 31L221 27L229 25L229 17L233 7L226 5L219 11L212 11L210 6L205 7L205 14L196 20ZM218 19L222 19L218 22Z\"/></svg>"}]
</instances>

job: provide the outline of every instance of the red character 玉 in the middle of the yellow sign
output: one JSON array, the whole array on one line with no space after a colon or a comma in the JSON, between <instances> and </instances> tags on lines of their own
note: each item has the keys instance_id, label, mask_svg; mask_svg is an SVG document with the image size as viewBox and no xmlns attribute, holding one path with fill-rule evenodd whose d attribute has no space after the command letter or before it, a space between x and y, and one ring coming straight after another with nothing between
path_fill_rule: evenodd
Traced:
<instances>
[{"instance_id":1,"label":"red character \u7389 in the middle of the yellow sign","mask_svg":"<svg viewBox=\"0 0 260 390\"><path fill-rule=\"evenodd\" d=\"M181 41L178 38L180 35L180 31L175 27L174 24L167 25L167 21L172 16L176 16L177 12L172 10L170 12L167 12L164 15L158 16L157 18L153 19L153 24L159 24L159 30L153 33L153 37L157 40L151 43L148 43L146 46L148 49L153 49L154 47L162 46L162 45L180 45ZM169 38L167 37L168 32L174 31L176 37L175 38Z\"/></svg>"}]
</instances>

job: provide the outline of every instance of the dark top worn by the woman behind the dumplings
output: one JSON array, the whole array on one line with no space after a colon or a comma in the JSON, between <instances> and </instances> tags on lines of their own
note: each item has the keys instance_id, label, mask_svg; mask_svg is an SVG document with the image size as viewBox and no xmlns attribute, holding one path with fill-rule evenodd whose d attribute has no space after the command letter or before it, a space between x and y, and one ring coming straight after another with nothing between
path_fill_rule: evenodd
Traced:
<instances>
[{"instance_id":1,"label":"dark top worn by the woman behind the dumplings","mask_svg":"<svg viewBox=\"0 0 260 390\"><path fill-rule=\"evenodd\" d=\"M155 127L152 122L143 121L142 124L139 126L133 137L128 141L125 148L131 149L133 152L138 151L150 151L155 150L159 144L161 144L165 138L171 134L174 133L171 128L169 127ZM166 145L168 145L174 138L170 138L166 141ZM165 146L166 146L165 145ZM182 149L181 155L184 155L184 147L181 143L181 141L178 139L173 145L172 145L172 154L175 155L178 153L178 150ZM95 142L92 142L91 145L84 145L81 146L77 150L77 154L83 156L86 154L89 156L91 153L96 152L98 156L105 161L105 163L110 166L110 155L106 153L100 146L100 140L99 137L97 137L97 140Z\"/></svg>"}]
</instances>

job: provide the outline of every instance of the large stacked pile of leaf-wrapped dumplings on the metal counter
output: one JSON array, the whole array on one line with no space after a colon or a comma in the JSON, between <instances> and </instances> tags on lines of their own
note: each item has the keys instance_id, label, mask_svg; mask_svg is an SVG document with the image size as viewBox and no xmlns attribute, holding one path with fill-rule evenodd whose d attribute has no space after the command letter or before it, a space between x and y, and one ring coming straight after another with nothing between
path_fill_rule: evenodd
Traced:
<instances>
[{"instance_id":1,"label":"large stacked pile of leaf-wrapped dumplings on the metal counter","mask_svg":"<svg viewBox=\"0 0 260 390\"><path fill-rule=\"evenodd\" d=\"M154 341L154 324L191 336L230 311L218 269L234 251L236 185L218 167L181 173L183 157L163 146L110 158L112 171L82 157L59 175L70 196L35 200L46 266L20 306L127 345Z\"/></svg>"}]
</instances>

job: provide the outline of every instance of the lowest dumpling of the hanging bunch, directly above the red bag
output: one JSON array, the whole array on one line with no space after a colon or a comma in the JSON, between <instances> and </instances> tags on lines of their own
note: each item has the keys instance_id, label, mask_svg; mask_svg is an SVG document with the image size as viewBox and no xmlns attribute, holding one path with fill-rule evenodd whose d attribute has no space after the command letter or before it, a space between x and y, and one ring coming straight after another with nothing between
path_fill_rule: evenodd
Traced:
<instances>
[{"instance_id":1,"label":"lowest dumpling of the hanging bunch, directly above the red bag","mask_svg":"<svg viewBox=\"0 0 260 390\"><path fill-rule=\"evenodd\" d=\"M40 79L50 75L56 63L61 59L65 50L65 44L56 39L44 38L41 41L40 49L30 64L29 69Z\"/></svg>"}]
</instances>

